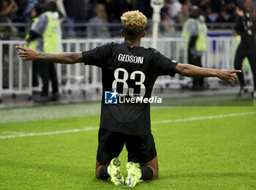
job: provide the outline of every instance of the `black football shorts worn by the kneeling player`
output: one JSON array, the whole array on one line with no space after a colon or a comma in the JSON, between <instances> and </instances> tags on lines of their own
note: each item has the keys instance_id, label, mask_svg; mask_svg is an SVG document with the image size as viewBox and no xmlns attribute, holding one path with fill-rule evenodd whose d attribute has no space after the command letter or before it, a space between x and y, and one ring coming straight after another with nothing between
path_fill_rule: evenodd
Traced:
<instances>
[{"instance_id":1,"label":"black football shorts worn by the kneeling player","mask_svg":"<svg viewBox=\"0 0 256 190\"><path fill-rule=\"evenodd\" d=\"M124 148L128 151L128 161L145 163L157 156L152 134L136 136L120 132L112 132L108 129L99 128L99 146L97 161L108 162L117 158Z\"/></svg>"}]
</instances>

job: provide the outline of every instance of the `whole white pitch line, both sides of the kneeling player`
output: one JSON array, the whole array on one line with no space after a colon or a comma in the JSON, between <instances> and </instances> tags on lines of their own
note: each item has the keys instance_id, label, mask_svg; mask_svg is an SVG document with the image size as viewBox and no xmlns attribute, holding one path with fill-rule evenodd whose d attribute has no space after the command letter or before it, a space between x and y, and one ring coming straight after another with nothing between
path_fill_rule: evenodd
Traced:
<instances>
[{"instance_id":1,"label":"whole white pitch line, both sides of the kneeling player","mask_svg":"<svg viewBox=\"0 0 256 190\"><path fill-rule=\"evenodd\" d=\"M255 115L256 112L248 112L248 113L230 113L225 115L209 115L203 117L196 118L180 118L174 120L165 120L165 121L154 121L151 124L159 124L159 123L175 123L175 122L183 122L183 121L197 121L204 119L214 119L214 118L228 118L228 117L236 117L241 115ZM56 132L41 132L41 133L28 133L28 134L18 134L18 135L8 135L8 136L0 136L0 139L9 139L15 137L31 137L31 136L41 136L41 135L49 135L49 134L61 134L61 133L70 133L70 132L86 132L92 130L98 130L99 127L86 127L84 129L70 129L65 131L56 131Z\"/></svg>"}]
</instances>

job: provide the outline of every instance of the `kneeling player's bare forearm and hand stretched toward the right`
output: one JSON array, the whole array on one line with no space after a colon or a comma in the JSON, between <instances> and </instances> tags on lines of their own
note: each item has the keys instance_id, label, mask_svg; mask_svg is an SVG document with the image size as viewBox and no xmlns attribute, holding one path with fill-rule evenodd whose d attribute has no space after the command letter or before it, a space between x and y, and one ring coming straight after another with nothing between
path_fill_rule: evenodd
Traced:
<instances>
[{"instance_id":1,"label":"kneeling player's bare forearm and hand stretched toward the right","mask_svg":"<svg viewBox=\"0 0 256 190\"><path fill-rule=\"evenodd\" d=\"M221 80L234 83L237 80L236 73L241 70L225 70L225 69L206 69L191 64L178 64L176 73L186 77L219 77Z\"/></svg>"}]
</instances>

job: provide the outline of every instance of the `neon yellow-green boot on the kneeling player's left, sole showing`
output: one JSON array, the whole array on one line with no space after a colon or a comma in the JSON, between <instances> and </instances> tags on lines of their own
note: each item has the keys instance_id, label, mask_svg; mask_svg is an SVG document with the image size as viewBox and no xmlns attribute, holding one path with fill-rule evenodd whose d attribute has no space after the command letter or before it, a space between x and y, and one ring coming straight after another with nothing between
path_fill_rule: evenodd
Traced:
<instances>
[{"instance_id":1,"label":"neon yellow-green boot on the kneeling player's left, sole showing","mask_svg":"<svg viewBox=\"0 0 256 190\"><path fill-rule=\"evenodd\" d=\"M113 158L109 165L110 180L115 186L124 185L124 177L120 172L121 161L118 158Z\"/></svg>"}]
</instances>

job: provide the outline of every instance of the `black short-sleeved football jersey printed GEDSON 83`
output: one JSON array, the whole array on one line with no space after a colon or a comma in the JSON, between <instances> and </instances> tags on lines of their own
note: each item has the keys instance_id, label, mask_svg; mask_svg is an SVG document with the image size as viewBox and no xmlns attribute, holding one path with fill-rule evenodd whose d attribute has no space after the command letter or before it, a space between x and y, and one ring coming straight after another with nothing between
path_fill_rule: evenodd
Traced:
<instances>
[{"instance_id":1,"label":"black short-sleeved football jersey printed GEDSON 83","mask_svg":"<svg viewBox=\"0 0 256 190\"><path fill-rule=\"evenodd\" d=\"M102 108L100 127L114 132L147 135L151 132L150 104L130 103L125 99L150 98L160 75L174 77L178 64L153 48L109 43L83 52L85 64L102 69ZM118 101L106 103L109 92L118 93ZM110 94L111 95L111 94ZM113 94L114 96L115 94ZM122 102L122 103L121 103Z\"/></svg>"}]
</instances>

